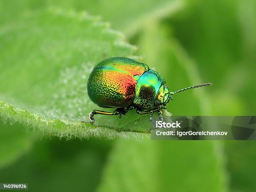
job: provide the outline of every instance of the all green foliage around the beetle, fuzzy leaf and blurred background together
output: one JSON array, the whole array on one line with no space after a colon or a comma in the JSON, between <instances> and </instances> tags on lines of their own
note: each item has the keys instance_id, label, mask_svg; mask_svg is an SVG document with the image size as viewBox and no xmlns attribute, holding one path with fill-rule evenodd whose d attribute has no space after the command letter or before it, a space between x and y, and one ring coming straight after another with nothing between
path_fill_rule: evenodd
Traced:
<instances>
[{"instance_id":1,"label":"all green foliage around the beetle, fuzzy leaf and blurred background together","mask_svg":"<svg viewBox=\"0 0 256 192\"><path fill-rule=\"evenodd\" d=\"M93 66L141 59L109 25L170 90L214 84L174 95L169 112L255 115L255 0L1 0L0 182L34 191L256 191L253 142L150 141L149 117L135 111L82 122L100 109L86 91Z\"/></svg>"}]
</instances>

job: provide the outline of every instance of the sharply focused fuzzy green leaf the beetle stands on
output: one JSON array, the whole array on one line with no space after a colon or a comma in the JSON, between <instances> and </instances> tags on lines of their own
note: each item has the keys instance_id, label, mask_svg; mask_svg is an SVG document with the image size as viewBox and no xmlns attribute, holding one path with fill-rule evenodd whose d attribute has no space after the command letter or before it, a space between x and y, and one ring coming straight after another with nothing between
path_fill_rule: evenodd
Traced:
<instances>
[{"instance_id":1,"label":"sharply focused fuzzy green leaf the beetle stands on","mask_svg":"<svg viewBox=\"0 0 256 192\"><path fill-rule=\"evenodd\" d=\"M129 137L135 134L118 131L150 130L148 116L134 112L121 120L96 115L95 125L89 123L88 114L99 108L87 95L92 68L112 56L134 58L136 50L97 18L58 9L32 12L1 27L0 38L2 118L60 137Z\"/></svg>"}]
</instances>

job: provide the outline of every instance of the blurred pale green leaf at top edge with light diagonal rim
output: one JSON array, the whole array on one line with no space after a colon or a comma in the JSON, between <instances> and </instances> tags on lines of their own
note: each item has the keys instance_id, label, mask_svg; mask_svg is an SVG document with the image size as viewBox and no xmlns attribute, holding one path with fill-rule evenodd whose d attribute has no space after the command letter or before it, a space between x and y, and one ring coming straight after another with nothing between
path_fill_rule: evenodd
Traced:
<instances>
[{"instance_id":1,"label":"blurred pale green leaf at top edge with light diagonal rim","mask_svg":"<svg viewBox=\"0 0 256 192\"><path fill-rule=\"evenodd\" d=\"M152 22L181 10L184 0L102 0L95 3L77 1L74 6L77 9L84 7L93 15L101 15L104 20L111 22L114 29L123 31L126 36L132 36Z\"/></svg>"}]
</instances>

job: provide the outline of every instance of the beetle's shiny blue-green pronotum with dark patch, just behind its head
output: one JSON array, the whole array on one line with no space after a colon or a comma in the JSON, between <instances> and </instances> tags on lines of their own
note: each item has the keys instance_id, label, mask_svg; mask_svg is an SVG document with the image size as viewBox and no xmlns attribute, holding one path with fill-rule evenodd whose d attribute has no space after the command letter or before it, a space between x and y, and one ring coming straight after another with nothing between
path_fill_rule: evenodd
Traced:
<instances>
[{"instance_id":1,"label":"beetle's shiny blue-green pronotum with dark patch, just behind its head","mask_svg":"<svg viewBox=\"0 0 256 192\"><path fill-rule=\"evenodd\" d=\"M153 109L155 100L159 100L160 103L163 102L164 98L161 95L168 92L168 88L164 86L165 83L164 78L153 69L145 72L138 79L133 104L142 109ZM159 92L160 87L161 92Z\"/></svg>"}]
</instances>

